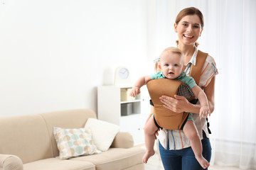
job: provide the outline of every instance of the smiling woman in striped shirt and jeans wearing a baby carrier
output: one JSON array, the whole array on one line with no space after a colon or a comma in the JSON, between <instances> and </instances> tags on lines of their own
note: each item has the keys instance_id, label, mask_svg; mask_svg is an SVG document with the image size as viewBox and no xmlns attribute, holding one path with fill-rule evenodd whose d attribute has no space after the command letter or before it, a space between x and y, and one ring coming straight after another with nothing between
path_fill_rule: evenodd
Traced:
<instances>
[{"instance_id":1,"label":"smiling woman in striped shirt and jeans wearing a baby carrier","mask_svg":"<svg viewBox=\"0 0 256 170\"><path fill-rule=\"evenodd\" d=\"M185 57L186 74L189 75L191 64L196 65L196 57L198 55L196 40L201 36L203 31L203 14L198 8L184 8L176 17L174 30L178 34L178 49L180 49ZM214 83L215 75L218 70L215 62L209 55L203 64L201 71L200 86L206 93L208 98L210 113L214 110ZM174 112L189 112L193 114L198 135L201 138L203 146L203 157L210 162L211 147L206 118L199 118L198 113L200 104L191 104L183 96L161 96L161 102L166 108ZM198 170L203 169L196 161L195 155L190 147L190 142L183 134L182 130L161 130L159 131L159 152L165 170Z\"/></svg>"}]
</instances>

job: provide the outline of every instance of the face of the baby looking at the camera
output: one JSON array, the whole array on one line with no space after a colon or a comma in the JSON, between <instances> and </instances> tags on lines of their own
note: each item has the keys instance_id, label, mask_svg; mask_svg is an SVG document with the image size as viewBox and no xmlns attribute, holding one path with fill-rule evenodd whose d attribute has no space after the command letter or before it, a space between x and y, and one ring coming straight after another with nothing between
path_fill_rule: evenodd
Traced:
<instances>
[{"instance_id":1,"label":"face of the baby looking at the camera","mask_svg":"<svg viewBox=\"0 0 256 170\"><path fill-rule=\"evenodd\" d=\"M164 52L160 57L160 67L168 79L176 79L183 72L183 61L176 52Z\"/></svg>"}]
</instances>

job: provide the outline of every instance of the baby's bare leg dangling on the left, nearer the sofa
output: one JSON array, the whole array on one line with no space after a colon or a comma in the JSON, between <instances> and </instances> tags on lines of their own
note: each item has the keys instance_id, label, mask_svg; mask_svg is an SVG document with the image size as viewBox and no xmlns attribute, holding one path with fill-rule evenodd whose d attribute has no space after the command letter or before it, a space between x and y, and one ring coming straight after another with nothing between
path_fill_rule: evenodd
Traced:
<instances>
[{"instance_id":1,"label":"baby's bare leg dangling on the left, nearer the sofa","mask_svg":"<svg viewBox=\"0 0 256 170\"><path fill-rule=\"evenodd\" d=\"M154 133L158 128L154 123L154 116L151 116L144 127L146 153L144 154L142 161L144 164L149 160L149 157L154 155Z\"/></svg>"}]
</instances>

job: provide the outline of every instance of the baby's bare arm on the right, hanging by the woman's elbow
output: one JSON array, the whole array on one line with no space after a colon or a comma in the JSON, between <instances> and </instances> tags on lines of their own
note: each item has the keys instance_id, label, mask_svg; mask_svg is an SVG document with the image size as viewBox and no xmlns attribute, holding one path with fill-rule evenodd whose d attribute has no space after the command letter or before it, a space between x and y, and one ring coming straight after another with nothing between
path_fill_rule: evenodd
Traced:
<instances>
[{"instance_id":1,"label":"baby's bare arm on the right, hanging by the woman's elbow","mask_svg":"<svg viewBox=\"0 0 256 170\"><path fill-rule=\"evenodd\" d=\"M198 101L200 101L200 113L199 116L202 118L207 118L208 114L210 113L209 105L208 105L208 99L206 94L203 92L203 90L199 86L193 86L192 89L193 94L195 94L196 98L198 98Z\"/></svg>"}]
</instances>

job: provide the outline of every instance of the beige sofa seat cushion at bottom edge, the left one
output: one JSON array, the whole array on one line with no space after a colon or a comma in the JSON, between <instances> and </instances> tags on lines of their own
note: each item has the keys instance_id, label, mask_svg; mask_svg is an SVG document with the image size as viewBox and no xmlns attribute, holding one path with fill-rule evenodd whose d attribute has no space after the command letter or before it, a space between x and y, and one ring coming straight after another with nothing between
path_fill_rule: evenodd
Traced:
<instances>
[{"instance_id":1,"label":"beige sofa seat cushion at bottom edge, the left one","mask_svg":"<svg viewBox=\"0 0 256 170\"><path fill-rule=\"evenodd\" d=\"M90 162L60 160L58 158L42 159L36 162L23 164L26 170L95 170Z\"/></svg>"}]
</instances>

